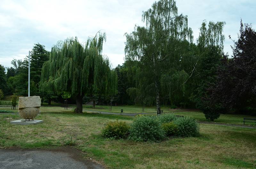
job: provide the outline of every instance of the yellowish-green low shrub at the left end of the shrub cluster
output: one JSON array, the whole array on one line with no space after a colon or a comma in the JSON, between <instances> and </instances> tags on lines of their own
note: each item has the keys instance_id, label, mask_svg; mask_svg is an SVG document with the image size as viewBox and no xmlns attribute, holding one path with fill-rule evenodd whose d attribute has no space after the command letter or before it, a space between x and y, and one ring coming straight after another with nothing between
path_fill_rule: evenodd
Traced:
<instances>
[{"instance_id":1,"label":"yellowish-green low shrub at the left end of the shrub cluster","mask_svg":"<svg viewBox=\"0 0 256 169\"><path fill-rule=\"evenodd\" d=\"M105 138L125 138L128 135L129 126L126 122L122 121L111 121L102 130L102 135Z\"/></svg>"}]
</instances>

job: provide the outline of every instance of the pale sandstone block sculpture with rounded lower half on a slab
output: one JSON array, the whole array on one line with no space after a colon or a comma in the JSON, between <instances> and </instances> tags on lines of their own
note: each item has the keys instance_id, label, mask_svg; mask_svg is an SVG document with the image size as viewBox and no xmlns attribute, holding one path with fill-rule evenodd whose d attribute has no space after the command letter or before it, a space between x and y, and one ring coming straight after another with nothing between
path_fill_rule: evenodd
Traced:
<instances>
[{"instance_id":1,"label":"pale sandstone block sculpture with rounded lower half on a slab","mask_svg":"<svg viewBox=\"0 0 256 169\"><path fill-rule=\"evenodd\" d=\"M25 120L34 120L39 113L41 99L39 96L20 97L19 110L20 117Z\"/></svg>"}]
</instances>

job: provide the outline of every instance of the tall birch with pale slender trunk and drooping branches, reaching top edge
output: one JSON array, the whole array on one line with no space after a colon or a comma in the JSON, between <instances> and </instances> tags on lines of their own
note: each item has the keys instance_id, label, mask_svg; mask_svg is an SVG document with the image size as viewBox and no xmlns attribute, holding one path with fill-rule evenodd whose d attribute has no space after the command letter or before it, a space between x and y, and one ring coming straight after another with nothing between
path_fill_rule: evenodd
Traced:
<instances>
[{"instance_id":1,"label":"tall birch with pale slender trunk and drooping branches, reaching top edge","mask_svg":"<svg viewBox=\"0 0 256 169\"><path fill-rule=\"evenodd\" d=\"M165 69L178 69L180 50L193 41L188 17L178 14L174 0L160 0L142 13L146 26L126 33L125 59L138 60L141 73L154 84L157 114L160 114L160 78ZM173 66L174 65L174 66ZM143 78L141 79L143 80Z\"/></svg>"}]
</instances>

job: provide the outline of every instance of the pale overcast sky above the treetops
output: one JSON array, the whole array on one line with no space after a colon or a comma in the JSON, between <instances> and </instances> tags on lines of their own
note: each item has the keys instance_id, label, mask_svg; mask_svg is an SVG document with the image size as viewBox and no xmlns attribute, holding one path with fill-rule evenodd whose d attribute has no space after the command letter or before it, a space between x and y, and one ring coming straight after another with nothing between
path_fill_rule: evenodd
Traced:
<instances>
[{"instance_id":1,"label":"pale overcast sky above the treetops","mask_svg":"<svg viewBox=\"0 0 256 169\"><path fill-rule=\"evenodd\" d=\"M116 67L124 62L124 33L142 25L142 11L155 0L0 0L0 64L23 59L34 43L51 50L58 40L77 36L80 42L105 31L103 55ZM237 40L240 19L256 28L256 0L177 0L178 12L188 15L194 41L202 21L225 21L224 52L232 55L228 35Z\"/></svg>"}]
</instances>

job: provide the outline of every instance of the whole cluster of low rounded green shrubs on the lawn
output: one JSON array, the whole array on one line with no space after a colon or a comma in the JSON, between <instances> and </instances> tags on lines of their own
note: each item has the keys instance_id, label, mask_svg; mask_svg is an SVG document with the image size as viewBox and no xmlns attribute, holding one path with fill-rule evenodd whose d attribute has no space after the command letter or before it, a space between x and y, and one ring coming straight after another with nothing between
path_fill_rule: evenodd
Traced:
<instances>
[{"instance_id":1,"label":"whole cluster of low rounded green shrubs on the lawn","mask_svg":"<svg viewBox=\"0 0 256 169\"><path fill-rule=\"evenodd\" d=\"M193 118L176 117L174 114L138 115L130 125L121 121L109 122L102 134L107 138L155 142L170 136L198 136L199 123Z\"/></svg>"}]
</instances>

